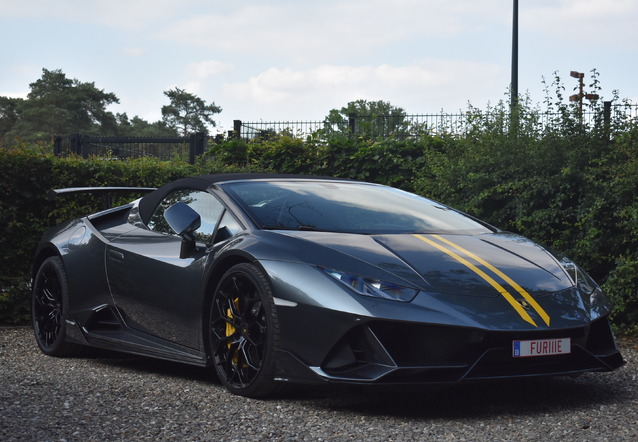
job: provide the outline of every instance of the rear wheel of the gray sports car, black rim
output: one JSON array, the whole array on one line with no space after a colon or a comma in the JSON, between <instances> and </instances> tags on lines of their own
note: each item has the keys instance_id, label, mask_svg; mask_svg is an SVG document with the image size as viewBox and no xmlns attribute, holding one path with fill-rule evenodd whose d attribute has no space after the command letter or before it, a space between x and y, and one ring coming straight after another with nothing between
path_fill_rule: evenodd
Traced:
<instances>
[{"instance_id":1,"label":"rear wheel of the gray sports car, black rim","mask_svg":"<svg viewBox=\"0 0 638 442\"><path fill-rule=\"evenodd\" d=\"M38 269L31 295L31 319L38 347L49 356L72 356L82 346L66 342L69 286L62 260L49 257Z\"/></svg>"}]
</instances>

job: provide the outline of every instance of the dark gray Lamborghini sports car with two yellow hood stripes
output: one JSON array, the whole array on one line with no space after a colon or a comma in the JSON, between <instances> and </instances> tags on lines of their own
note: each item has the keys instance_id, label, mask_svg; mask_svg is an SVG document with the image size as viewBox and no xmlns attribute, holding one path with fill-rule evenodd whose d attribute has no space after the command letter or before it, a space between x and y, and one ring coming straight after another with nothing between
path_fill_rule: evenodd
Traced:
<instances>
[{"instance_id":1,"label":"dark gray Lamborghini sports car with two yellow hood stripes","mask_svg":"<svg viewBox=\"0 0 638 442\"><path fill-rule=\"evenodd\" d=\"M570 260L426 198L334 178L184 178L66 222L37 249L32 298L46 354L91 346L211 366L250 397L624 363L608 298Z\"/></svg>"}]
</instances>

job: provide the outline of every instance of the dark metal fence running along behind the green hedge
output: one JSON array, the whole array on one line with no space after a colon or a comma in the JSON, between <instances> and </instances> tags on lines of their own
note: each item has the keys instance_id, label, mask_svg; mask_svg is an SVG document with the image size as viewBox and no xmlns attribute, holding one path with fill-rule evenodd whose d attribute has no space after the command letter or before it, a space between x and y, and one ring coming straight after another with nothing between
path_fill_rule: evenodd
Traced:
<instances>
[{"instance_id":1,"label":"dark metal fence running along behind the green hedge","mask_svg":"<svg viewBox=\"0 0 638 442\"><path fill-rule=\"evenodd\" d=\"M593 126L610 123L638 123L638 105L605 102L602 110L583 112L577 115L580 123ZM562 114L538 113L524 116L527 124L537 128L560 125ZM418 138L424 134L467 134L473 127L479 129L485 121L502 125L509 130L510 115L500 112L467 112L457 114L415 114L400 116L357 116L350 115L337 122L328 121L275 121L243 122L234 121L234 130L229 138L244 140L269 139L282 135L292 137L316 137L329 139L335 135L361 136L366 138ZM530 122L531 121L531 122ZM522 123L521 123L522 124ZM613 130L613 128L612 128ZM218 135L215 138L221 137ZM68 155L74 153L84 158L89 156L106 158L158 157L162 160L188 160L191 164L202 155L210 143L215 142L206 133L198 132L187 137L149 138L149 137L92 137L74 134L54 138L54 153Z\"/></svg>"}]
</instances>

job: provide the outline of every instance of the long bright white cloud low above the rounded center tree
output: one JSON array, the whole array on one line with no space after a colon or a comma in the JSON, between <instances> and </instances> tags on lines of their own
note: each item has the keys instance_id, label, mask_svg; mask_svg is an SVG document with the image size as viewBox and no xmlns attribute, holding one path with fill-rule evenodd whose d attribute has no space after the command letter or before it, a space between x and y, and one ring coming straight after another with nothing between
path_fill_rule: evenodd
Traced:
<instances>
[{"instance_id":1,"label":"long bright white cloud low above the rounded center tree","mask_svg":"<svg viewBox=\"0 0 638 442\"><path fill-rule=\"evenodd\" d=\"M410 66L270 68L245 82L225 84L222 97L232 100L233 108L263 112L250 118L321 119L330 109L358 99L390 101L408 112L419 113L431 111L433 106L465 107L468 96L489 100L499 88L494 80L499 74L497 66L487 63L438 59ZM477 85L485 91L484 97L474 90ZM443 92L450 90L455 91L453 96ZM316 115L318 109L323 109L321 115Z\"/></svg>"}]
</instances>

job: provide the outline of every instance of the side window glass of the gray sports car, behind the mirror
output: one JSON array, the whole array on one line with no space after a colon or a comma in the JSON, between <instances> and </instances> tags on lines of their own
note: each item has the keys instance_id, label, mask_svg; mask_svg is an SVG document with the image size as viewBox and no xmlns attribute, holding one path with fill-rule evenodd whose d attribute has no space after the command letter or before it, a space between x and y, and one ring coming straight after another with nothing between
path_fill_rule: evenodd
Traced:
<instances>
[{"instance_id":1,"label":"side window glass of the gray sports car, behind the mirror","mask_svg":"<svg viewBox=\"0 0 638 442\"><path fill-rule=\"evenodd\" d=\"M195 231L195 239L210 244L213 240L217 221L224 212L224 206L208 192L183 189L166 195L155 208L153 215L151 215L148 228L156 232L174 235L175 232L164 219L164 211L180 201L188 204L202 218L202 225Z\"/></svg>"}]
</instances>

